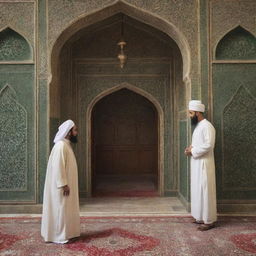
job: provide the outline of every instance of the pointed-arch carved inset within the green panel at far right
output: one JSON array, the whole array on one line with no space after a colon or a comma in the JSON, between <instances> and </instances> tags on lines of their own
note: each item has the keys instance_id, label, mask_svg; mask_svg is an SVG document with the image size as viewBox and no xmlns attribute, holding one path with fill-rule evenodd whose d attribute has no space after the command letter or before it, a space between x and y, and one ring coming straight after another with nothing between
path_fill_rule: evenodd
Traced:
<instances>
[{"instance_id":1,"label":"pointed-arch carved inset within the green panel at far right","mask_svg":"<svg viewBox=\"0 0 256 256\"><path fill-rule=\"evenodd\" d=\"M224 189L256 189L255 116L256 99L241 86L222 117Z\"/></svg>"}]
</instances>

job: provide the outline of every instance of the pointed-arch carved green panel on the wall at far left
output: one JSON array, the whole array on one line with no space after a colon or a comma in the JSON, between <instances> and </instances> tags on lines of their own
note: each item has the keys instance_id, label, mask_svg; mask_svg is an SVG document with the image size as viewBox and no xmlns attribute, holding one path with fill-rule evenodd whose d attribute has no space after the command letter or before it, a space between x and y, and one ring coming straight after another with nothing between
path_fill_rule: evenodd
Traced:
<instances>
[{"instance_id":1,"label":"pointed-arch carved green panel on the wall at far left","mask_svg":"<svg viewBox=\"0 0 256 256\"><path fill-rule=\"evenodd\" d=\"M7 85L0 91L0 190L27 189L27 113Z\"/></svg>"}]
</instances>

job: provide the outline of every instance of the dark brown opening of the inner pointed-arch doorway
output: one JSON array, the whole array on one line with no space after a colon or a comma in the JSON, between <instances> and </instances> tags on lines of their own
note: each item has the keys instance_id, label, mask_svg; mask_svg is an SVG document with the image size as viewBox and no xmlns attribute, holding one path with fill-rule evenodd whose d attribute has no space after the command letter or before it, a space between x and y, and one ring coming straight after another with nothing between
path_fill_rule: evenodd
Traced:
<instances>
[{"instance_id":1,"label":"dark brown opening of the inner pointed-arch doorway","mask_svg":"<svg viewBox=\"0 0 256 256\"><path fill-rule=\"evenodd\" d=\"M91 120L92 195L158 195L158 114L154 105L122 88L94 105Z\"/></svg>"}]
</instances>

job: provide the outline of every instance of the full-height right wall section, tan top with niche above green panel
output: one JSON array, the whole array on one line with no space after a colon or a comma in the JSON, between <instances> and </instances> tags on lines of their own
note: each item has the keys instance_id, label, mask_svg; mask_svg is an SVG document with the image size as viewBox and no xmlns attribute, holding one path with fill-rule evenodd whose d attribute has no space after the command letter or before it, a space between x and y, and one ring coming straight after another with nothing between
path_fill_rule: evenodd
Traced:
<instances>
[{"instance_id":1,"label":"full-height right wall section, tan top with niche above green panel","mask_svg":"<svg viewBox=\"0 0 256 256\"><path fill-rule=\"evenodd\" d=\"M241 202L255 199L256 190L255 157L248 152L256 143L250 130L256 123L255 108L251 108L256 97L256 1L208 2L209 56L216 59L210 63L208 96L213 99L216 128L217 198Z\"/></svg>"}]
</instances>

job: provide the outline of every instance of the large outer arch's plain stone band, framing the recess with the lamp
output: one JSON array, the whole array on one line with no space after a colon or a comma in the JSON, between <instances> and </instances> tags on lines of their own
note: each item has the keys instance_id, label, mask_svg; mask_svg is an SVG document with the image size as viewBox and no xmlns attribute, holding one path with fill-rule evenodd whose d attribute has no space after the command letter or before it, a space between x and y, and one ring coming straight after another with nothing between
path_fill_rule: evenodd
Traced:
<instances>
[{"instance_id":1,"label":"large outer arch's plain stone band, framing the recess with the lamp","mask_svg":"<svg viewBox=\"0 0 256 256\"><path fill-rule=\"evenodd\" d=\"M190 47L181 31L175 27L169 21L162 19L153 13L146 12L142 9L136 8L130 4L122 1L118 1L108 7L98 10L93 13L85 14L74 20L64 31L62 31L58 39L54 42L50 52L50 115L58 115L59 109L56 106L56 101L58 102L59 94L59 65L60 65L60 53L68 40L74 36L78 31L89 27L97 22L103 21L115 14L123 13L133 19L152 26L153 28L164 32L177 44L181 56L182 56L182 73L183 82L185 84L185 97L190 95L191 78L191 59L190 59ZM54 110L55 109L55 110ZM54 112L54 113L52 113Z\"/></svg>"}]
</instances>

